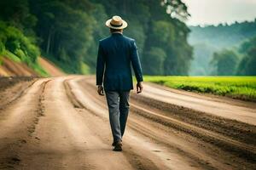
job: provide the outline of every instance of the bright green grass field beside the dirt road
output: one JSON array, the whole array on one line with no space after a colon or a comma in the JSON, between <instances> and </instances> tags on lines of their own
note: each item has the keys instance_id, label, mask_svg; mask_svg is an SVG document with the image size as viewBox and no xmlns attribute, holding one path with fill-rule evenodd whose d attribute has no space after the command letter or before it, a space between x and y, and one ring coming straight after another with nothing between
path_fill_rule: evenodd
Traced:
<instances>
[{"instance_id":1,"label":"bright green grass field beside the dirt road","mask_svg":"<svg viewBox=\"0 0 256 170\"><path fill-rule=\"evenodd\" d=\"M169 88L256 101L256 77L144 77Z\"/></svg>"}]
</instances>

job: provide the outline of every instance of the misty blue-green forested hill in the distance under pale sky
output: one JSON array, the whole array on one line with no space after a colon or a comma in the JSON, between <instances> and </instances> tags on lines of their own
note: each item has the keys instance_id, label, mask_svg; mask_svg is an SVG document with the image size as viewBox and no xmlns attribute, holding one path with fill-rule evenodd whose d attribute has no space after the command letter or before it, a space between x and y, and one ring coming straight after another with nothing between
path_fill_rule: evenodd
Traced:
<instances>
[{"instance_id":1,"label":"misty blue-green forested hill in the distance under pale sky","mask_svg":"<svg viewBox=\"0 0 256 170\"><path fill-rule=\"evenodd\" d=\"M252 22L218 26L190 26L189 44L194 47L189 75L211 75L212 54L223 48L237 48L248 38L256 37L256 19Z\"/></svg>"}]
</instances>

